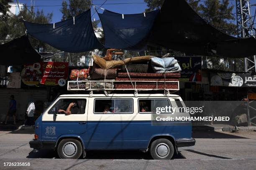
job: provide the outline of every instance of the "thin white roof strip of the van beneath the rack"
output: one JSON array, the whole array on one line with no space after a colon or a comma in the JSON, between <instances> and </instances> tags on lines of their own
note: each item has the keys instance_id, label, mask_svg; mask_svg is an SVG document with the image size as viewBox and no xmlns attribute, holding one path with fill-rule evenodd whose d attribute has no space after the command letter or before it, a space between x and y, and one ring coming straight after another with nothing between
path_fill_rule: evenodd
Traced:
<instances>
[{"instance_id":1,"label":"thin white roof strip of the van beneath the rack","mask_svg":"<svg viewBox=\"0 0 256 170\"><path fill-rule=\"evenodd\" d=\"M90 97L89 94L60 95L60 97ZM92 97L134 97L134 94L93 94ZM138 94L138 97L167 97L165 94ZM179 95L170 94L168 97L179 97Z\"/></svg>"}]
</instances>

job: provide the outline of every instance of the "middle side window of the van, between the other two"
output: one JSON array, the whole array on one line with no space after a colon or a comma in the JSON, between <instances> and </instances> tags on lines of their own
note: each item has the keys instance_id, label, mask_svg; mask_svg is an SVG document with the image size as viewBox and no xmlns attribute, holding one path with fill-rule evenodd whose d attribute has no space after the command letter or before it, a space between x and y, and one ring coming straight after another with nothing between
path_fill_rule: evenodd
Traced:
<instances>
[{"instance_id":1,"label":"middle side window of the van, between the other two","mask_svg":"<svg viewBox=\"0 0 256 170\"><path fill-rule=\"evenodd\" d=\"M133 113L132 99L95 99L95 114Z\"/></svg>"}]
</instances>

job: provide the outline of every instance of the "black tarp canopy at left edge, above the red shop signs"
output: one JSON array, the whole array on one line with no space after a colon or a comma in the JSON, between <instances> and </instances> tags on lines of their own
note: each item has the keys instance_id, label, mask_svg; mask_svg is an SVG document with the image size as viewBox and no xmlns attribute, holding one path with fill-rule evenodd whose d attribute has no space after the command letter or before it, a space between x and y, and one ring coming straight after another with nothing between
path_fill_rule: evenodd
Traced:
<instances>
[{"instance_id":1,"label":"black tarp canopy at left edge, above the red shop signs","mask_svg":"<svg viewBox=\"0 0 256 170\"><path fill-rule=\"evenodd\" d=\"M26 35L0 45L0 52L0 65L23 65L41 60L41 55L33 49Z\"/></svg>"}]
</instances>

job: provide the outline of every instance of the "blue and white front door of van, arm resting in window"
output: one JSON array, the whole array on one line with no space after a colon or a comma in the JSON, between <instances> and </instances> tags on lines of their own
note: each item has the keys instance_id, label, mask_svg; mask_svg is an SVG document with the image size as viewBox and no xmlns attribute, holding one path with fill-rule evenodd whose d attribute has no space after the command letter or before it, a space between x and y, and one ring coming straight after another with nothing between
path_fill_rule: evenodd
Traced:
<instances>
[{"instance_id":1,"label":"blue and white front door of van, arm resting in window","mask_svg":"<svg viewBox=\"0 0 256 170\"><path fill-rule=\"evenodd\" d=\"M42 140L57 140L61 135L83 138L87 131L87 108L88 97L60 97L42 117Z\"/></svg>"}]
</instances>

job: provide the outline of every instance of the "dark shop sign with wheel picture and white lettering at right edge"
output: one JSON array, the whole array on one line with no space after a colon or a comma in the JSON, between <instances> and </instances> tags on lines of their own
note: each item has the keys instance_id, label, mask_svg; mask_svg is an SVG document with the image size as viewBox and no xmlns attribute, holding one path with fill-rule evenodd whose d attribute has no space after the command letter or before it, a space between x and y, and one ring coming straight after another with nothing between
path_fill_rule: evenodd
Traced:
<instances>
[{"instance_id":1,"label":"dark shop sign with wheel picture and white lettering at right edge","mask_svg":"<svg viewBox=\"0 0 256 170\"><path fill-rule=\"evenodd\" d=\"M256 75L249 73L212 73L211 85L232 87L256 87Z\"/></svg>"}]
</instances>

